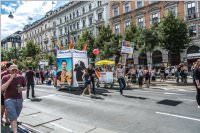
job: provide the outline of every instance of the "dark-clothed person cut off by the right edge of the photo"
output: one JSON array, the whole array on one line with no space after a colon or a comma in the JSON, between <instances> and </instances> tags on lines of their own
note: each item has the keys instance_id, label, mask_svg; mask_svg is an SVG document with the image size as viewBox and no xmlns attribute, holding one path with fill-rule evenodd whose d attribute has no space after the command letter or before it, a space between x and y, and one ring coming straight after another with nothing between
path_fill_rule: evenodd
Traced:
<instances>
[{"instance_id":1,"label":"dark-clothed person cut off by the right edge of the photo","mask_svg":"<svg viewBox=\"0 0 200 133\"><path fill-rule=\"evenodd\" d=\"M198 108L200 109L200 59L197 60L196 66L194 68L194 80L197 90L196 100Z\"/></svg>"}]
</instances>

